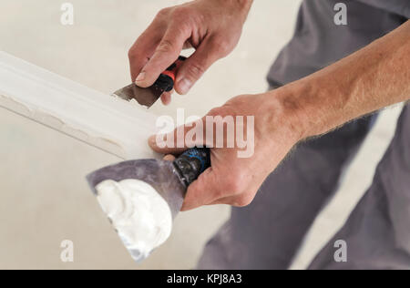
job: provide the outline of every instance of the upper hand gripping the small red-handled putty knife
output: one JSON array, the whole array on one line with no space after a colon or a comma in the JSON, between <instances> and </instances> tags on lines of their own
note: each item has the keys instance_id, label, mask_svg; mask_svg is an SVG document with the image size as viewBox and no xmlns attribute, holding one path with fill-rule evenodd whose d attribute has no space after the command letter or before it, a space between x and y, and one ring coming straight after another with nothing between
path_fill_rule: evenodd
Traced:
<instances>
[{"instance_id":1,"label":"upper hand gripping the small red-handled putty knife","mask_svg":"<svg viewBox=\"0 0 410 288\"><path fill-rule=\"evenodd\" d=\"M175 90L187 94L190 87L215 61L238 44L252 0L196 0L163 9L130 48L132 81L149 87L174 63L183 48L195 53L179 68ZM164 104L170 94L162 97Z\"/></svg>"}]
</instances>

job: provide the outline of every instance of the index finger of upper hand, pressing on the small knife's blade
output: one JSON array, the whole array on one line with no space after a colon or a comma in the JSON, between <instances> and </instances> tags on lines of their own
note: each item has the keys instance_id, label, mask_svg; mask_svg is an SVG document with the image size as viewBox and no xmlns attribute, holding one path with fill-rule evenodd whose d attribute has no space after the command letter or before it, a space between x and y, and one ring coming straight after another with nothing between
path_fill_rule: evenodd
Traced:
<instances>
[{"instance_id":1,"label":"index finger of upper hand, pressing on the small knife's blade","mask_svg":"<svg viewBox=\"0 0 410 288\"><path fill-rule=\"evenodd\" d=\"M190 37L190 29L186 26L170 25L159 42L154 55L142 68L136 79L139 87L149 87L179 57L185 41Z\"/></svg>"}]
</instances>

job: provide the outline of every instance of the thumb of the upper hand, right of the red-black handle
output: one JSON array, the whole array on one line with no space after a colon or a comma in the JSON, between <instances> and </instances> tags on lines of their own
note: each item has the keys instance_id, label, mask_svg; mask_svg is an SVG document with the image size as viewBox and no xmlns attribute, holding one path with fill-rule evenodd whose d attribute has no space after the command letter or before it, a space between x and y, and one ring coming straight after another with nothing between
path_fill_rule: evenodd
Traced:
<instances>
[{"instance_id":1,"label":"thumb of the upper hand, right of the red-black handle","mask_svg":"<svg viewBox=\"0 0 410 288\"><path fill-rule=\"evenodd\" d=\"M218 59L221 51L211 40L205 39L198 49L179 67L175 90L185 95L190 88L202 77L206 70Z\"/></svg>"}]
</instances>

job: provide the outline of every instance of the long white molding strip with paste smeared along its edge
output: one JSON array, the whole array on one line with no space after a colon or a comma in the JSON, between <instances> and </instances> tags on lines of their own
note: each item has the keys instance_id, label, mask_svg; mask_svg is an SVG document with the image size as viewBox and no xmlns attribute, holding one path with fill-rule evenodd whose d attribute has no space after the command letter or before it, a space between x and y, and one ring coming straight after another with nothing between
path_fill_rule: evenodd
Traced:
<instances>
[{"instance_id":1,"label":"long white molding strip with paste smeared along its edge","mask_svg":"<svg viewBox=\"0 0 410 288\"><path fill-rule=\"evenodd\" d=\"M0 51L0 107L122 159L155 158L147 139L156 117Z\"/></svg>"}]
</instances>

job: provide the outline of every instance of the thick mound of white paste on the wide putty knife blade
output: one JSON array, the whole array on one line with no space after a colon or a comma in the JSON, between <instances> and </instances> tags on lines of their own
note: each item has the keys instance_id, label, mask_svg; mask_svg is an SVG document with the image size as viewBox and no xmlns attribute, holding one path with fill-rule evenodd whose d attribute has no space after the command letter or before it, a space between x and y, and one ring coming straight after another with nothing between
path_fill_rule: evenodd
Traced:
<instances>
[{"instance_id":1,"label":"thick mound of white paste on the wide putty knife blade","mask_svg":"<svg viewBox=\"0 0 410 288\"><path fill-rule=\"evenodd\" d=\"M148 183L105 180L96 189L99 204L135 261L146 258L169 238L172 229L169 205Z\"/></svg>"}]
</instances>

